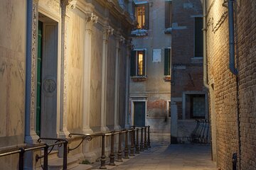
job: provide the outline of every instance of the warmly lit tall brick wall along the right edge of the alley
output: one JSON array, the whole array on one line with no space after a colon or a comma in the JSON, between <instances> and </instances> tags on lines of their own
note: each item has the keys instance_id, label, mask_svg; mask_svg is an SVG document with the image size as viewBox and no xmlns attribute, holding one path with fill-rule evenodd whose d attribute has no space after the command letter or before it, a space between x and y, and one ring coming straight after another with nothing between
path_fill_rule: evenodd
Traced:
<instances>
[{"instance_id":1,"label":"warmly lit tall brick wall along the right edge of the alley","mask_svg":"<svg viewBox=\"0 0 256 170\"><path fill-rule=\"evenodd\" d=\"M220 169L232 169L232 154L239 153L239 146L240 169L256 169L255 6L253 0L235 1L235 58L239 72L235 77L228 69L228 9L223 1L208 1L208 77L213 96L210 107L214 107L210 114L216 120L213 140Z\"/></svg>"}]
</instances>

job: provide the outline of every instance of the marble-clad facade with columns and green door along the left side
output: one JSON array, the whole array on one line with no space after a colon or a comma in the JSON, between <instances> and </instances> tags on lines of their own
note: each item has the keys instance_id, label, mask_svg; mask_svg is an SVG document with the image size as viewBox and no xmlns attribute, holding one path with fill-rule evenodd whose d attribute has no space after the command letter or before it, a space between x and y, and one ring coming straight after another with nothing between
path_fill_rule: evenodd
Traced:
<instances>
[{"instance_id":1,"label":"marble-clad facade with columns and green door along the left side","mask_svg":"<svg viewBox=\"0 0 256 170\"><path fill-rule=\"evenodd\" d=\"M0 8L1 151L124 128L131 2L4 0ZM100 138L70 154L100 157ZM27 169L40 166L34 159L26 155ZM1 157L1 169L17 160Z\"/></svg>"}]
</instances>

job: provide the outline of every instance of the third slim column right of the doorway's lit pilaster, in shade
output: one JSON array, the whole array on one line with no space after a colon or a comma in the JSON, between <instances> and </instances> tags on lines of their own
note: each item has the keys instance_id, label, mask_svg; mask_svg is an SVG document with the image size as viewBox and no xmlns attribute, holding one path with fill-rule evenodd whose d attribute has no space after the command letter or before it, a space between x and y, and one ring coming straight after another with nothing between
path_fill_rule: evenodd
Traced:
<instances>
[{"instance_id":1,"label":"third slim column right of the doorway's lit pilaster, in shade","mask_svg":"<svg viewBox=\"0 0 256 170\"><path fill-rule=\"evenodd\" d=\"M114 130L119 130L119 52L120 44L124 44L124 37L117 35L116 39L116 60L115 60L115 73L114 73Z\"/></svg>"}]
</instances>

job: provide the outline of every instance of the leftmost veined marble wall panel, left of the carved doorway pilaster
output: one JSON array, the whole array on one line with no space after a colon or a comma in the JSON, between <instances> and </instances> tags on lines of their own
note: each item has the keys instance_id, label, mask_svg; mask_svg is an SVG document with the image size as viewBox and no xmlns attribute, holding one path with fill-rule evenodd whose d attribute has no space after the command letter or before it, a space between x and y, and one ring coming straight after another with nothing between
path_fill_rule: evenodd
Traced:
<instances>
[{"instance_id":1,"label":"leftmost veined marble wall panel, left of the carved doorway pilaster","mask_svg":"<svg viewBox=\"0 0 256 170\"><path fill-rule=\"evenodd\" d=\"M24 142L26 1L0 6L0 148Z\"/></svg>"}]
</instances>

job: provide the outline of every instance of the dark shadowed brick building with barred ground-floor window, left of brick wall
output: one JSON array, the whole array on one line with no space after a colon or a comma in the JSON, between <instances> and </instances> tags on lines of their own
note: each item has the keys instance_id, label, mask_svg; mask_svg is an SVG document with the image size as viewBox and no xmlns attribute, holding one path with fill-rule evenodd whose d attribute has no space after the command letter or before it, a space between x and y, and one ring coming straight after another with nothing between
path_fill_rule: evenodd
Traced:
<instances>
[{"instance_id":1,"label":"dark shadowed brick building with barred ground-floor window, left of brick wall","mask_svg":"<svg viewBox=\"0 0 256 170\"><path fill-rule=\"evenodd\" d=\"M171 142L187 142L196 120L208 119L203 87L203 11L200 0L172 1Z\"/></svg>"}]
</instances>

